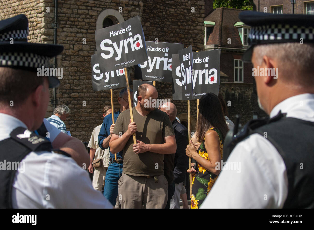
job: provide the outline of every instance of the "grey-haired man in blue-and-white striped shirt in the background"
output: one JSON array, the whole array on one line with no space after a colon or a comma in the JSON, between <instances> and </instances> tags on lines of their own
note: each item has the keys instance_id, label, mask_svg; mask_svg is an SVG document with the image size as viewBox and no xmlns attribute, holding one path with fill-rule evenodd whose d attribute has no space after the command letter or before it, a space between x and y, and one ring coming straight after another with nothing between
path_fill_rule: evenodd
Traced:
<instances>
[{"instance_id":1,"label":"grey-haired man in blue-and-white striped shirt in the background","mask_svg":"<svg viewBox=\"0 0 314 230\"><path fill-rule=\"evenodd\" d=\"M67 133L67 128L64 124L65 120L70 115L70 109L66 105L58 105L54 110L51 117L47 118L51 125L55 126L63 133Z\"/></svg>"}]
</instances>

